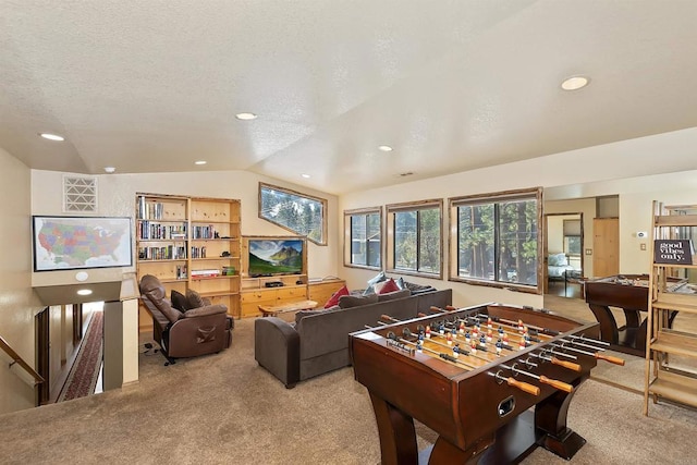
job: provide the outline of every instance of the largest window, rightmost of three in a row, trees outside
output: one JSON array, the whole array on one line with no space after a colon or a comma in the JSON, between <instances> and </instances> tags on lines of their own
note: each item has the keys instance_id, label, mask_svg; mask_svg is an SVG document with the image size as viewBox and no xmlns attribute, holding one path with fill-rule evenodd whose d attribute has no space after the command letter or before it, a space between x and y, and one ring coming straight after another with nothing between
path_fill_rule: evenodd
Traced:
<instances>
[{"instance_id":1,"label":"largest window, rightmost of three in a row, trees outside","mask_svg":"<svg viewBox=\"0 0 697 465\"><path fill-rule=\"evenodd\" d=\"M451 281L539 292L541 188L450 199Z\"/></svg>"}]
</instances>

